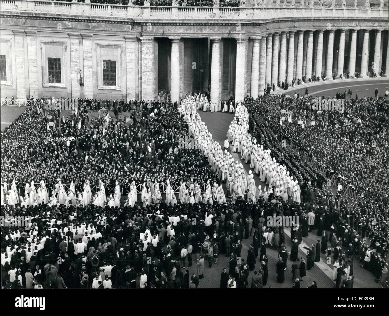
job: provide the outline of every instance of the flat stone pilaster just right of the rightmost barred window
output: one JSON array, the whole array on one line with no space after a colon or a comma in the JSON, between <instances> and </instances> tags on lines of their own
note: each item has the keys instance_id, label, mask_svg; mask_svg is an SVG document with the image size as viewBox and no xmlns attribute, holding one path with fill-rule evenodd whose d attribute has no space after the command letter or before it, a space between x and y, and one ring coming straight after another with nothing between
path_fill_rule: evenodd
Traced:
<instances>
[{"instance_id":1,"label":"flat stone pilaster just right of the rightmost barred window","mask_svg":"<svg viewBox=\"0 0 389 316\"><path fill-rule=\"evenodd\" d=\"M134 37L124 37L126 39L126 100L135 100L137 69L135 68L135 42Z\"/></svg>"}]
</instances>

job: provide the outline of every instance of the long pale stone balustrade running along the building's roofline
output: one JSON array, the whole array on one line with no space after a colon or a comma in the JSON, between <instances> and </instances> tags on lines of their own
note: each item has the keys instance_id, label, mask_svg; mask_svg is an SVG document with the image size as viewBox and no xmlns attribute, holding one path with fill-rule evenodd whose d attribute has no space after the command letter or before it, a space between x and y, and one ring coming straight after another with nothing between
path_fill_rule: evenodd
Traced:
<instances>
[{"instance_id":1,"label":"long pale stone balustrade running along the building's roofline","mask_svg":"<svg viewBox=\"0 0 389 316\"><path fill-rule=\"evenodd\" d=\"M1 12L10 14L66 14L68 16L133 19L227 19L270 20L307 17L388 17L388 10L365 8L292 8L292 7L146 7L90 4L82 2L1 0ZM377 7L378 8L378 7Z\"/></svg>"}]
</instances>

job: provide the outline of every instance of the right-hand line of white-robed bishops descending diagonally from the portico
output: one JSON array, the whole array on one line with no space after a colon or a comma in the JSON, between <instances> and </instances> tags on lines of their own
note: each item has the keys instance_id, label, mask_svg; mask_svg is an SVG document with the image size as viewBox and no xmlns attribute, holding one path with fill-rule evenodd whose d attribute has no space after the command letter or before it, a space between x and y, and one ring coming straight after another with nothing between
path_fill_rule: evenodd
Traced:
<instances>
[{"instance_id":1,"label":"right-hand line of white-robed bishops descending diagonally from the portico","mask_svg":"<svg viewBox=\"0 0 389 316\"><path fill-rule=\"evenodd\" d=\"M289 176L289 171L286 167L276 162L275 158L270 156L270 150L264 150L263 145L256 144L249 130L249 113L247 108L239 103L237 105L235 117L228 129L226 140L232 142L233 152L241 153L241 158L245 163L250 162L250 168L254 169L255 174L259 174L262 182L269 185L269 191L262 192L261 186L258 186L259 192L254 183L254 177L251 170L249 171L249 180L247 187L249 189L249 200L256 202L258 197L265 198L270 193L274 193L276 197L281 196L283 200L287 201L289 197L298 204L301 203L301 189L298 185L298 180L293 180L293 176ZM274 187L274 190L273 190Z\"/></svg>"}]
</instances>

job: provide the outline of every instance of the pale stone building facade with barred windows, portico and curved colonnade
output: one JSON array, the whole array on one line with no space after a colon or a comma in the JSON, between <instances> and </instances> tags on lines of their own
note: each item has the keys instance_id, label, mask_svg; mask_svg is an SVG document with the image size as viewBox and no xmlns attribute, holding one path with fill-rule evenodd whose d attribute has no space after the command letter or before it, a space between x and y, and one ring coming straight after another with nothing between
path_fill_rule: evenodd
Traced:
<instances>
[{"instance_id":1,"label":"pale stone building facade with barred windows, portico and curved colonnade","mask_svg":"<svg viewBox=\"0 0 389 316\"><path fill-rule=\"evenodd\" d=\"M262 95L333 73L387 76L388 10L1 0L1 97Z\"/></svg>"}]
</instances>

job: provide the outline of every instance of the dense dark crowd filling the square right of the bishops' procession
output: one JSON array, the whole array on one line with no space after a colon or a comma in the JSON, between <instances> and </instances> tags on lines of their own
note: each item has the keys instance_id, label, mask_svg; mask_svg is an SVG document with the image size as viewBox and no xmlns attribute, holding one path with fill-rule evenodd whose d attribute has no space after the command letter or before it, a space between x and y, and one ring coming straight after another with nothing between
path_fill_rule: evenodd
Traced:
<instances>
[{"instance_id":1,"label":"dense dark crowd filling the square right of the bishops' procession","mask_svg":"<svg viewBox=\"0 0 389 316\"><path fill-rule=\"evenodd\" d=\"M337 97L345 98L346 95L347 91L338 93ZM375 262L382 263L385 262L383 258L387 254L389 241L389 183L385 167L389 162L388 101L377 97L377 93L376 98L350 98L344 101L344 111L317 111L315 102L320 102L320 99L297 95L294 98L275 95L259 97L257 100L247 98L245 105L251 114L252 130L256 138L268 148L277 146L272 150L274 156L280 151L282 156L287 157L286 164L315 170L313 165L301 158L295 149L297 147L326 167L326 177L332 174L338 176L339 191L335 202L342 218L349 221L349 226L344 223L343 228L349 227L348 232L354 231L362 237L368 237L368 244L364 243L364 247L358 249L368 253L374 250L374 255L380 253ZM282 146L281 139L287 140L284 144L294 146ZM291 168L291 174L293 171ZM317 179L318 176L321 180L312 185L322 189L320 184L324 179L322 175L316 175ZM305 183L311 179L312 174L309 176L309 173L303 177ZM341 198L342 184L349 185L360 198L356 201ZM303 188L301 197L307 200L312 194ZM319 216L322 217L322 214ZM365 256L359 255L363 262ZM370 255L368 257L370 262ZM375 275L377 273L380 274L380 271L376 271Z\"/></svg>"}]
</instances>

